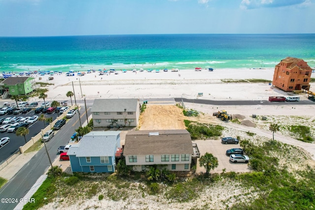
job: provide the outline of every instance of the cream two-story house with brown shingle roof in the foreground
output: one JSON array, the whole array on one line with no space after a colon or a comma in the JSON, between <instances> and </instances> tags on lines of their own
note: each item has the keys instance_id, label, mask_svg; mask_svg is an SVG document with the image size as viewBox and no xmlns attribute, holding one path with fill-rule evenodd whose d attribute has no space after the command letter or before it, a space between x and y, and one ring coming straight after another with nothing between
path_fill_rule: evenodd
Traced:
<instances>
[{"instance_id":1,"label":"cream two-story house with brown shingle roof in the foreground","mask_svg":"<svg viewBox=\"0 0 315 210\"><path fill-rule=\"evenodd\" d=\"M179 130L137 130L126 134L124 156L134 171L163 165L170 171L190 171L194 155L190 133Z\"/></svg>"}]
</instances>

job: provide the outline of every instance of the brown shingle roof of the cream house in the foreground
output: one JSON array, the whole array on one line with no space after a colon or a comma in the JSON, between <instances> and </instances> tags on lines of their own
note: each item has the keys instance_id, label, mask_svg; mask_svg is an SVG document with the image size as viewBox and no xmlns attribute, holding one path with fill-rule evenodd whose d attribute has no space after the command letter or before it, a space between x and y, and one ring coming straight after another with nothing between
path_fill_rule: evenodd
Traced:
<instances>
[{"instance_id":1,"label":"brown shingle roof of the cream house in the foreground","mask_svg":"<svg viewBox=\"0 0 315 210\"><path fill-rule=\"evenodd\" d=\"M190 133L185 129L129 131L124 155L148 154L193 154Z\"/></svg>"}]
</instances>

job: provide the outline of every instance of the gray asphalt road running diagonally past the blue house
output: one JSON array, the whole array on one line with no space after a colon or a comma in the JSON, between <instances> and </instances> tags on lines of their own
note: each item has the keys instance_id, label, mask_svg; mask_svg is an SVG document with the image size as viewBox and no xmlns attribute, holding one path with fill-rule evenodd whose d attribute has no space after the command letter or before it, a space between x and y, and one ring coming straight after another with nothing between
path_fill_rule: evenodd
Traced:
<instances>
[{"instance_id":1,"label":"gray asphalt road running diagonally past the blue house","mask_svg":"<svg viewBox=\"0 0 315 210\"><path fill-rule=\"evenodd\" d=\"M80 110L80 116L83 123L86 120L85 110ZM58 148L69 142L70 137L79 126L79 115L76 114L46 143L52 161L59 156L57 153ZM46 172L49 166L48 156L43 147L11 180L1 187L0 198L17 198L18 200L23 198L36 180ZM16 206L17 204L1 204L0 210L13 210Z\"/></svg>"}]
</instances>

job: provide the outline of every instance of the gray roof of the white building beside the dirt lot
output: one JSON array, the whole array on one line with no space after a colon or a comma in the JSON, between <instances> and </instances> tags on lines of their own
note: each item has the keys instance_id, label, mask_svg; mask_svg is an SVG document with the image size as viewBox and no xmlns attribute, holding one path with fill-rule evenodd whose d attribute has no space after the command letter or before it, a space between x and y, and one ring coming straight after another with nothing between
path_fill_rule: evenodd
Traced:
<instances>
[{"instance_id":1,"label":"gray roof of the white building beside the dirt lot","mask_svg":"<svg viewBox=\"0 0 315 210\"><path fill-rule=\"evenodd\" d=\"M91 112L135 112L139 99L95 99Z\"/></svg>"}]
</instances>

